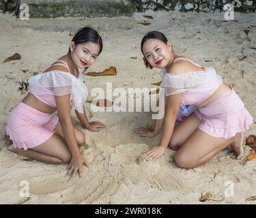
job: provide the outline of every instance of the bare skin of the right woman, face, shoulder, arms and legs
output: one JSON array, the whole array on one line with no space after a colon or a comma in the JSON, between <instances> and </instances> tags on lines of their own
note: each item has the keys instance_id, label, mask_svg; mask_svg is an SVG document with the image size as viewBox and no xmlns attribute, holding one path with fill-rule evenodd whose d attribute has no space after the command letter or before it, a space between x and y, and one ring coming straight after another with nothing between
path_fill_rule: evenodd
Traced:
<instances>
[{"instance_id":1,"label":"bare skin of the right woman, face, shoulder, arms and legs","mask_svg":"<svg viewBox=\"0 0 256 218\"><path fill-rule=\"evenodd\" d=\"M165 68L167 72L173 74L203 70L201 67L184 60L173 63L173 60L179 56L173 53L169 42L166 44L156 39L147 40L143 45L143 55L152 67ZM159 61L160 65L157 64ZM214 99L221 97L230 90L231 88L223 82L208 99L205 99L197 107L207 106ZM175 153L175 162L181 168L195 168L210 160L229 145L233 148L237 159L242 157L242 133L238 133L229 139L210 136L198 129L201 120L197 118L195 113L190 114L187 119L175 127L181 99L182 93L165 97L165 117L156 120L153 129L147 127L134 129L134 133L139 136L154 137L163 127L160 142L150 151L144 153L141 156L143 159L147 161L158 159L165 152L167 146L177 151Z\"/></svg>"}]
</instances>

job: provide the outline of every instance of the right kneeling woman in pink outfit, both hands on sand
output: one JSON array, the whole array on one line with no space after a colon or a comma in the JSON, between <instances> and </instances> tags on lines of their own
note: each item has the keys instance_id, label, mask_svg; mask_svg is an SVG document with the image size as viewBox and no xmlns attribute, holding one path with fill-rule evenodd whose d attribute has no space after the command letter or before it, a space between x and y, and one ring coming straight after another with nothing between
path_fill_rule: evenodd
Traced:
<instances>
[{"instance_id":1,"label":"right kneeling woman in pink outfit, both hands on sand","mask_svg":"<svg viewBox=\"0 0 256 218\"><path fill-rule=\"evenodd\" d=\"M146 67L162 69L160 87L165 90L164 118L156 120L154 129L134 129L140 136L153 137L163 125L158 146L144 153L143 159L155 160L169 146L177 151L178 166L195 168L229 145L240 159L243 132L253 123L253 117L232 87L223 82L213 67L175 55L165 35L158 31L143 37L141 52ZM186 104L198 109L174 128L179 108L186 108Z\"/></svg>"}]
</instances>

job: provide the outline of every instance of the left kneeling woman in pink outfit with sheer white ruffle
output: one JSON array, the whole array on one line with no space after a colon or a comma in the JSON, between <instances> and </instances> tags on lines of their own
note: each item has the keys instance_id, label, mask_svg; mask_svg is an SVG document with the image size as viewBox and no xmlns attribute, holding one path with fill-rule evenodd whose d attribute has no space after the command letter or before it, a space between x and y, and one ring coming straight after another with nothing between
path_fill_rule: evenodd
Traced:
<instances>
[{"instance_id":1,"label":"left kneeling woman in pink outfit with sheer white ruffle","mask_svg":"<svg viewBox=\"0 0 256 218\"><path fill-rule=\"evenodd\" d=\"M67 55L29 79L29 93L8 116L6 133L13 142L10 151L44 163L70 163L68 174L81 175L83 164L88 165L79 150L85 134L72 124L70 103L83 127L89 131L104 127L87 120L83 107L87 88L78 69L94 64L101 51L100 35L83 27L74 35Z\"/></svg>"}]
</instances>

